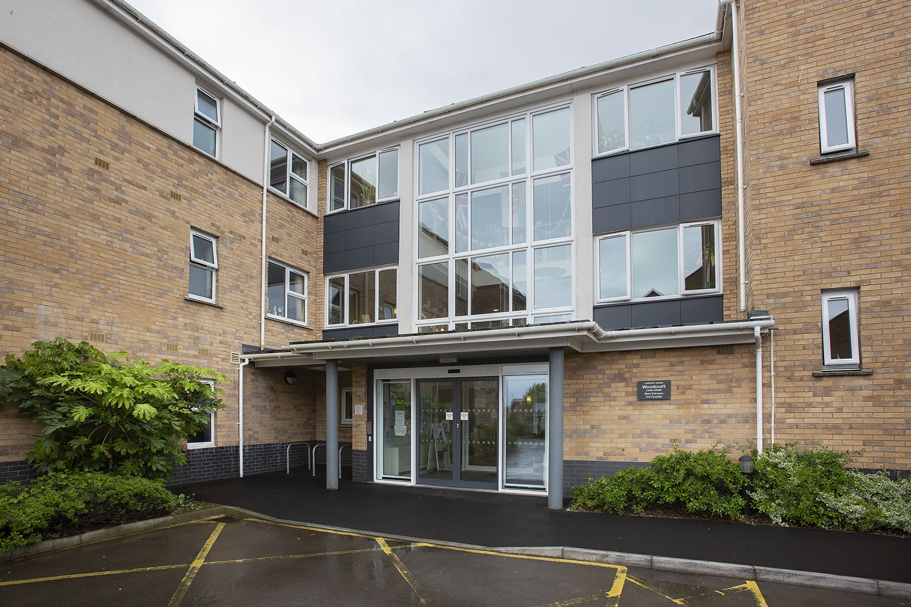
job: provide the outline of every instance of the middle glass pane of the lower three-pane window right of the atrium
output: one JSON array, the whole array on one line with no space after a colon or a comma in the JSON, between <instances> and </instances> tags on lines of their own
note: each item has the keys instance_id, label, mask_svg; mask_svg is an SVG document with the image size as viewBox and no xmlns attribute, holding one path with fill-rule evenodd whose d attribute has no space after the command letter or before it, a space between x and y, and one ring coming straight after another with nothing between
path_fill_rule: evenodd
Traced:
<instances>
[{"instance_id":1,"label":"middle glass pane of the lower three-pane window right of the atrium","mask_svg":"<svg viewBox=\"0 0 911 607\"><path fill-rule=\"evenodd\" d=\"M632 235L632 296L679 295L677 228Z\"/></svg>"}]
</instances>

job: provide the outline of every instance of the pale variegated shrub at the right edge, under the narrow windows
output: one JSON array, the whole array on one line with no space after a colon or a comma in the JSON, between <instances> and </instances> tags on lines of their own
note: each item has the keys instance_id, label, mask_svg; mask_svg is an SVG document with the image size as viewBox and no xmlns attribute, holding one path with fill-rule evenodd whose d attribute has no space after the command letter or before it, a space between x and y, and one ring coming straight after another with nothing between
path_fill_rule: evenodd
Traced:
<instances>
[{"instance_id":1,"label":"pale variegated shrub at the right edge, under the narrow windows","mask_svg":"<svg viewBox=\"0 0 911 607\"><path fill-rule=\"evenodd\" d=\"M755 456L755 508L780 525L911 532L911 480L845 469L859 452L773 445Z\"/></svg>"}]
</instances>

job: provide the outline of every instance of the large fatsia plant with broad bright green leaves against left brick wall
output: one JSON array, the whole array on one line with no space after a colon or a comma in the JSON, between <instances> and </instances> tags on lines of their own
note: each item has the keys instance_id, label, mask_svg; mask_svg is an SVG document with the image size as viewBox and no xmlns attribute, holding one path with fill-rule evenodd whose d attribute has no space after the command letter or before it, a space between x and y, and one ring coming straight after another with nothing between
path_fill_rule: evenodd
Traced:
<instances>
[{"instance_id":1,"label":"large fatsia plant with broad bright green leaves against left brick wall","mask_svg":"<svg viewBox=\"0 0 911 607\"><path fill-rule=\"evenodd\" d=\"M45 424L26 460L42 472L99 470L167 479L186 454L179 440L224 407L225 381L211 369L162 360L150 365L126 352L105 354L83 341L36 341L0 366L0 404Z\"/></svg>"}]
</instances>

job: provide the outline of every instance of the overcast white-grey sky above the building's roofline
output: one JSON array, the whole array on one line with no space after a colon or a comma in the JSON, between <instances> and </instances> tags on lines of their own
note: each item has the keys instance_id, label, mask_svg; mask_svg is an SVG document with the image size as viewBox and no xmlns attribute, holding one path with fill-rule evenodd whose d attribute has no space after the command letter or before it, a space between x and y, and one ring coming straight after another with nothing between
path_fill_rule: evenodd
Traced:
<instances>
[{"instance_id":1,"label":"overcast white-grey sky above the building's roofline","mask_svg":"<svg viewBox=\"0 0 911 607\"><path fill-rule=\"evenodd\" d=\"M128 0L326 142L710 33L717 0Z\"/></svg>"}]
</instances>

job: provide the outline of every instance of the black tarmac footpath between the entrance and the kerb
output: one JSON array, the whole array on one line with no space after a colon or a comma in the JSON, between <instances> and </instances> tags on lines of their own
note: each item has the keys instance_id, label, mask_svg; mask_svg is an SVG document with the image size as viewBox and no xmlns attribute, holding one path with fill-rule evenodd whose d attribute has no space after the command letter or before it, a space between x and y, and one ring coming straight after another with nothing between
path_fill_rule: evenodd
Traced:
<instances>
[{"instance_id":1,"label":"black tarmac footpath between the entrance and the kerb","mask_svg":"<svg viewBox=\"0 0 911 607\"><path fill-rule=\"evenodd\" d=\"M345 472L350 479L350 469ZM550 511L545 497L345 479L338 491L326 491L325 477L305 468L171 489L277 519L376 534L480 546L571 546L911 583L911 538L899 536Z\"/></svg>"}]
</instances>

